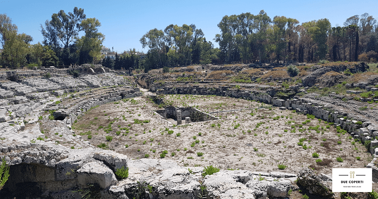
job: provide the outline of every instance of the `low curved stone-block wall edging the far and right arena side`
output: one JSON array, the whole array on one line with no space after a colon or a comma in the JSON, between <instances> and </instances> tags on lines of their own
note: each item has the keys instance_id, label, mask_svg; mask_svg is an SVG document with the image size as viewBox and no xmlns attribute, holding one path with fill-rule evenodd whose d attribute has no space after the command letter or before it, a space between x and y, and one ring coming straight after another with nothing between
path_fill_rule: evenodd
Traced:
<instances>
[{"instance_id":1,"label":"low curved stone-block wall edging the far and right arena side","mask_svg":"<svg viewBox=\"0 0 378 199\"><path fill-rule=\"evenodd\" d=\"M269 92L268 92L269 93ZM262 91L253 91L253 92L241 92L237 90L232 90L229 87L219 87L219 88L212 88L209 89L208 87L177 87L177 88L169 88L166 87L164 90L159 90L156 92L157 95L165 94L181 94L181 95L216 95L216 96L229 96L232 98L243 98L248 100L258 100L264 103L272 104L274 106L283 107L285 109L296 110L296 112L300 112L303 114L312 114L316 118L334 122L335 126L340 126L342 129L347 130L354 138L359 138L363 141L366 140L374 140L376 136L378 136L378 128L376 125L373 124L373 121L365 120L361 118L362 124L359 124L357 120L349 120L344 119L343 117L346 116L344 113L340 113L342 111L339 110L330 110L328 108L324 108L319 103L313 103L311 101L305 99L293 99L293 100L281 100L276 97L271 97L267 92ZM187 117L185 111L183 111L183 118ZM364 128L369 129L368 131ZM378 155L378 150L375 151L375 147L378 146L378 141L371 143L371 153L376 153ZM378 149L378 148L377 148Z\"/></svg>"}]
</instances>

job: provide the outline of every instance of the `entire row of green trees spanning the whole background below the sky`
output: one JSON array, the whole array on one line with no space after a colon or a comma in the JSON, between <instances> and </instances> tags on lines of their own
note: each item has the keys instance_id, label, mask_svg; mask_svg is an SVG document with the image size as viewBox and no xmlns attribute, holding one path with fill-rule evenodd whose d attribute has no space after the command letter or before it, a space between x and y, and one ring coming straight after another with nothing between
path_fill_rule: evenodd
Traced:
<instances>
[{"instance_id":1,"label":"entire row of green trees spanning the whole background below the sky","mask_svg":"<svg viewBox=\"0 0 378 199\"><path fill-rule=\"evenodd\" d=\"M261 10L225 15L213 39L214 48L194 24L170 24L164 30L149 30L140 38L148 48L140 59L135 50L115 59L103 59L100 51L105 36L98 31L100 22L87 18L84 9L60 10L41 24L44 40L19 34L6 14L0 14L0 66L52 66L101 62L114 69L150 69L191 64L292 63L319 61L370 61L378 59L377 20L364 13L346 19L343 26L331 27L328 19L299 23L297 19L275 16ZM85 35L79 37L79 33Z\"/></svg>"}]
</instances>

